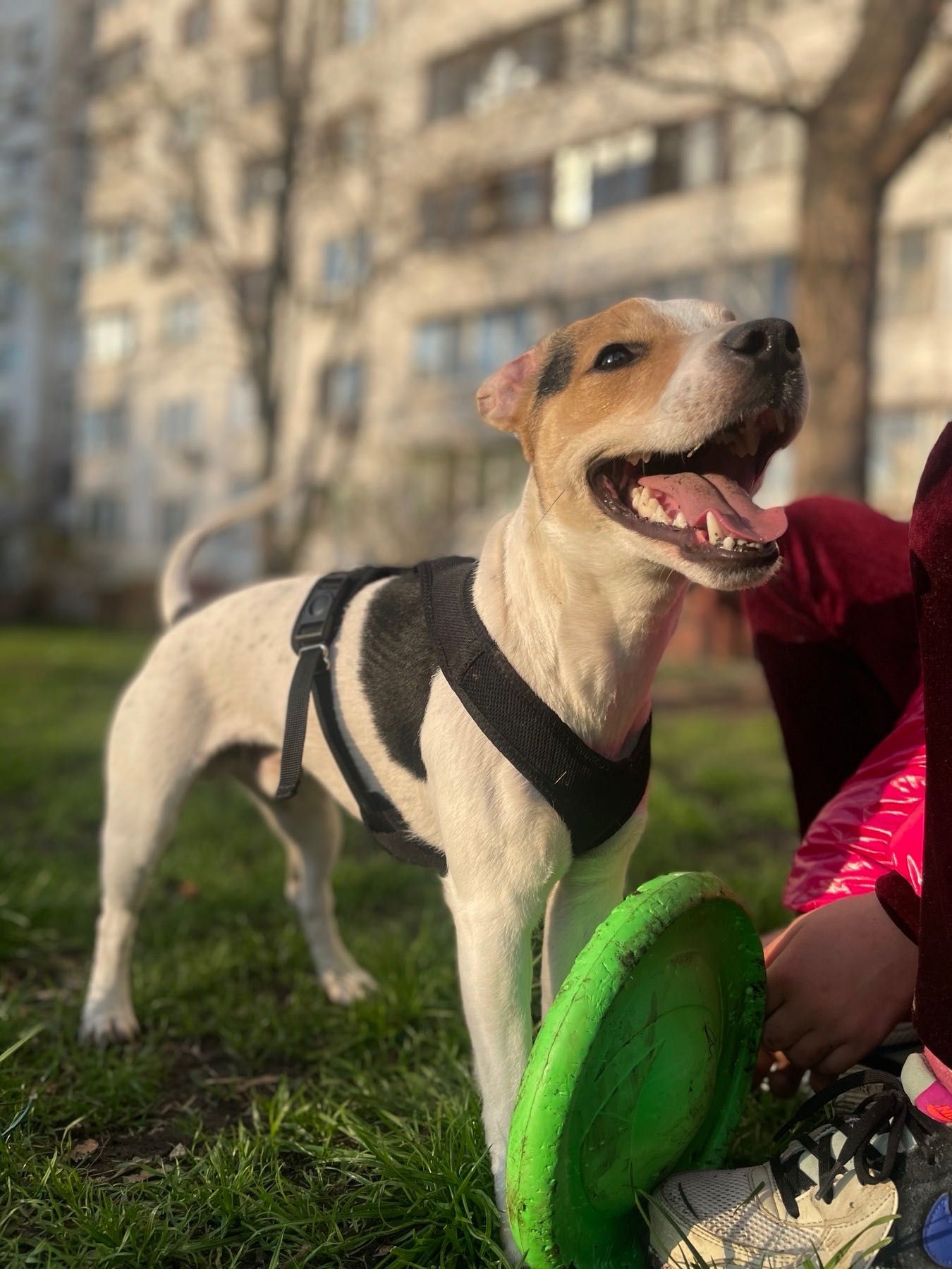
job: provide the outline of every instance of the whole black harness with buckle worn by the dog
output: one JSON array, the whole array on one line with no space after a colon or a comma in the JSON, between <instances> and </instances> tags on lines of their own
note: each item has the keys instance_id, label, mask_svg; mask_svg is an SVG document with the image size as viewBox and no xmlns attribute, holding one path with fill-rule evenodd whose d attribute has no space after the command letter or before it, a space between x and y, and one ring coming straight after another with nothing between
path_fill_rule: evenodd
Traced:
<instances>
[{"instance_id":1,"label":"whole black harness with buckle worn by the dog","mask_svg":"<svg viewBox=\"0 0 952 1269\"><path fill-rule=\"evenodd\" d=\"M443 675L480 731L526 777L565 821L572 854L600 845L626 824L647 789L651 718L627 758L603 758L575 735L517 674L472 602L476 561L451 556L409 569L331 572L312 588L294 622L291 646L298 656L288 693L281 783L292 797L301 779L308 697L360 817L381 845L409 863L446 876L442 850L410 831L393 803L369 789L340 731L330 679L330 648L344 609L358 590L382 577L414 571L426 631Z\"/></svg>"}]
</instances>

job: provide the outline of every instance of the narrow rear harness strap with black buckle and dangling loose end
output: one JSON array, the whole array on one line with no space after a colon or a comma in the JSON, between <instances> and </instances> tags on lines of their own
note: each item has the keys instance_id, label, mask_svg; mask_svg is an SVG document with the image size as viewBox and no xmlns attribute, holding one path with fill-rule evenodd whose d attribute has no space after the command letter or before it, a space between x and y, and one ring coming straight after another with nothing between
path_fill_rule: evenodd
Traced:
<instances>
[{"instance_id":1,"label":"narrow rear harness strap with black buckle and dangling loose end","mask_svg":"<svg viewBox=\"0 0 952 1269\"><path fill-rule=\"evenodd\" d=\"M443 851L410 832L393 803L377 789L367 787L340 730L331 687L330 648L348 603L369 582L406 571L406 569L366 567L352 572L331 572L311 589L291 636L291 646L297 652L298 660L288 692L281 779L274 796L284 799L293 797L297 791L307 735L308 698L312 695L327 749L347 780L367 829L397 859L434 868L440 876L446 876L447 862Z\"/></svg>"}]
</instances>

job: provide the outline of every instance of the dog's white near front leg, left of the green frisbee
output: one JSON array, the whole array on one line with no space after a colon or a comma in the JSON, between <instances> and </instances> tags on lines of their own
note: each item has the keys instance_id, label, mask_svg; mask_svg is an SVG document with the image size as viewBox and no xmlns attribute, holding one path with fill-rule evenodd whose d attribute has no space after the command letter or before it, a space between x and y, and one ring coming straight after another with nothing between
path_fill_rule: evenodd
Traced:
<instances>
[{"instance_id":1,"label":"dog's white near front leg, left of the green frisbee","mask_svg":"<svg viewBox=\"0 0 952 1269\"><path fill-rule=\"evenodd\" d=\"M539 912L527 912L505 896L465 897L446 883L456 924L463 1010L470 1030L482 1122L501 1217L503 1244L518 1251L505 1204L505 1151L519 1081L532 1043L532 928Z\"/></svg>"}]
</instances>

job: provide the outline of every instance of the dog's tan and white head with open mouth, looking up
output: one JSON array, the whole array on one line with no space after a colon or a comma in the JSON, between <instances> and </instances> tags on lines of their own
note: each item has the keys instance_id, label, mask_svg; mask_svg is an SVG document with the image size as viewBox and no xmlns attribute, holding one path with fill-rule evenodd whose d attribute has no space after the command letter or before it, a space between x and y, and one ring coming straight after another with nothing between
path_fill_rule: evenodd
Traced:
<instances>
[{"instance_id":1,"label":"dog's tan and white head with open mouth, looking up","mask_svg":"<svg viewBox=\"0 0 952 1269\"><path fill-rule=\"evenodd\" d=\"M626 299L541 340L476 400L518 435L547 516L567 533L721 590L776 567L786 516L753 494L806 411L790 322Z\"/></svg>"}]
</instances>

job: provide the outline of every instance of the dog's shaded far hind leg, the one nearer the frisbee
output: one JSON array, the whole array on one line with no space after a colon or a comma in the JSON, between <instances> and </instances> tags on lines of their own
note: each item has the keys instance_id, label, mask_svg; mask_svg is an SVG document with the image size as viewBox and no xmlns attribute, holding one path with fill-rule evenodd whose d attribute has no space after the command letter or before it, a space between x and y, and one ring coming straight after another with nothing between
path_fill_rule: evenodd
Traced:
<instances>
[{"instance_id":1,"label":"dog's shaded far hind leg, the one nearer the frisbee","mask_svg":"<svg viewBox=\"0 0 952 1269\"><path fill-rule=\"evenodd\" d=\"M334 914L331 873L343 839L340 811L331 796L308 775L301 778L292 798L275 802L264 791L275 788L279 765L281 755L269 755L258 765L256 787L242 783L284 845L284 895L301 917L321 986L333 1001L348 1005L363 1000L377 983L348 952Z\"/></svg>"}]
</instances>

